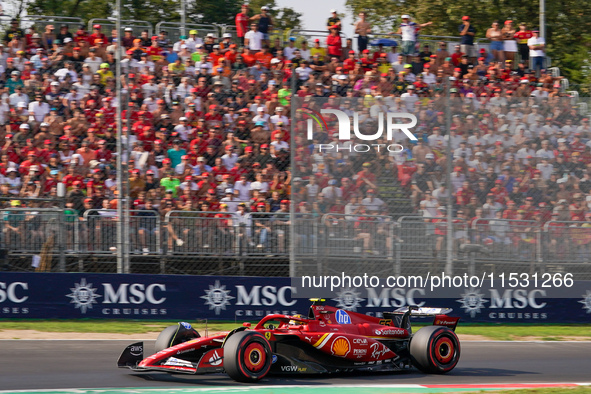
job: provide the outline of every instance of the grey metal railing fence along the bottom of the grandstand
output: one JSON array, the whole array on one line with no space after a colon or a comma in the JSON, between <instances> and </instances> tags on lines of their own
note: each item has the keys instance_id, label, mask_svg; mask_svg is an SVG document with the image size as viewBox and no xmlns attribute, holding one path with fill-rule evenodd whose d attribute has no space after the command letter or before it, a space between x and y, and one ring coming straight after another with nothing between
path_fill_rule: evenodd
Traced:
<instances>
[{"instance_id":1,"label":"grey metal railing fence along the bottom of the grandstand","mask_svg":"<svg viewBox=\"0 0 591 394\"><path fill-rule=\"evenodd\" d=\"M153 213L153 214L152 214ZM2 211L4 270L116 272L117 211L15 208ZM445 217L359 213L130 211L133 273L288 276L439 272L447 259ZM591 222L454 217L453 273L573 272L588 276ZM587 272L587 273L585 273Z\"/></svg>"}]
</instances>

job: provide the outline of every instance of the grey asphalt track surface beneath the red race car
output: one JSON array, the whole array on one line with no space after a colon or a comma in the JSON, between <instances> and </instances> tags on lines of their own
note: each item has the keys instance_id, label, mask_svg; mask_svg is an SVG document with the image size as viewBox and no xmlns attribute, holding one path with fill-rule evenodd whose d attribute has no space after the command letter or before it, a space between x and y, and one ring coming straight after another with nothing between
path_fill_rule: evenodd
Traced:
<instances>
[{"instance_id":1,"label":"grey asphalt track surface beneath the red race car","mask_svg":"<svg viewBox=\"0 0 591 394\"><path fill-rule=\"evenodd\" d=\"M134 373L116 367L128 341L0 341L0 390L236 386L225 374ZM145 342L146 349L153 342ZM591 381L591 342L464 342L447 375L420 372L269 377L262 385L506 384Z\"/></svg>"}]
</instances>

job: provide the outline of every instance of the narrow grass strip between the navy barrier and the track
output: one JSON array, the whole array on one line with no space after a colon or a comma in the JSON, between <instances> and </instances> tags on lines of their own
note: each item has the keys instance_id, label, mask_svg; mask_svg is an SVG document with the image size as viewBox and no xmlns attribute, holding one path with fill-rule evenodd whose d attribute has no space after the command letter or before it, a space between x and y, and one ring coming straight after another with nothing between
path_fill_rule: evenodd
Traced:
<instances>
[{"instance_id":1,"label":"narrow grass strip between the navy barrier and the track","mask_svg":"<svg viewBox=\"0 0 591 394\"><path fill-rule=\"evenodd\" d=\"M205 331L204 322L189 321L200 332ZM37 330L43 332L96 332L115 334L142 334L158 332L176 321L139 321L139 320L9 320L0 319L0 331L3 330ZM207 323L209 332L230 331L242 323L210 321ZM415 331L423 324L415 324ZM460 324L458 334L480 335L494 340L520 340L535 337L544 341L562 341L570 338L589 338L589 325L526 325L526 324Z\"/></svg>"}]
</instances>

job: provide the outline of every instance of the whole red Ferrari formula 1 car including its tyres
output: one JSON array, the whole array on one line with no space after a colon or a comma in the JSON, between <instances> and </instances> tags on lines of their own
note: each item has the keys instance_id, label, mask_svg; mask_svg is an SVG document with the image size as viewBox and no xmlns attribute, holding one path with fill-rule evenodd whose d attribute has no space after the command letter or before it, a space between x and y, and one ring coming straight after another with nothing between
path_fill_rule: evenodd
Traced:
<instances>
[{"instance_id":1,"label":"whole red Ferrari formula 1 car including its tyres","mask_svg":"<svg viewBox=\"0 0 591 394\"><path fill-rule=\"evenodd\" d=\"M451 309L400 308L383 318L349 312L312 300L308 317L267 315L228 334L200 337L188 323L164 329L156 353L144 358L143 342L125 348L117 366L133 371L206 374L226 372L240 382L267 374L451 371L460 358ZM412 333L412 316L433 316L433 325Z\"/></svg>"}]
</instances>

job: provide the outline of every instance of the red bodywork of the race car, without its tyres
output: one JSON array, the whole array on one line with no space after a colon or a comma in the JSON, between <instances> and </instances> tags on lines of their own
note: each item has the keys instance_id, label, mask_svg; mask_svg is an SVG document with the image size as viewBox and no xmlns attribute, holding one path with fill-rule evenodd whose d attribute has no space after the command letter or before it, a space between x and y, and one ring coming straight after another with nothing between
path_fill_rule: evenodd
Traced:
<instances>
[{"instance_id":1,"label":"red bodywork of the race car, without its tyres","mask_svg":"<svg viewBox=\"0 0 591 394\"><path fill-rule=\"evenodd\" d=\"M433 324L454 330L458 320L457 317L435 315ZM275 324L270 327L271 323ZM311 346L328 356L341 359L341 363L347 360L350 365L393 365L401 357L392 350L392 344L408 343L412 336L407 329L395 326L391 319L344 311L327 305L312 305L308 318L267 315L255 327L251 328L249 323L245 323L238 330L245 329L263 334L277 356L281 355L276 350L277 343L291 341L292 344L297 344L299 340L303 349L310 349ZM132 369L190 374L223 372L223 343L232 333L180 343L143 359ZM335 361L338 365L338 360ZM278 365L277 369L279 367ZM281 369L283 373L303 371L315 373L307 367L299 370L297 366Z\"/></svg>"}]
</instances>

